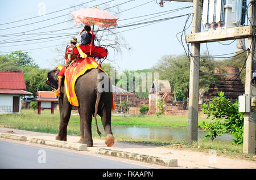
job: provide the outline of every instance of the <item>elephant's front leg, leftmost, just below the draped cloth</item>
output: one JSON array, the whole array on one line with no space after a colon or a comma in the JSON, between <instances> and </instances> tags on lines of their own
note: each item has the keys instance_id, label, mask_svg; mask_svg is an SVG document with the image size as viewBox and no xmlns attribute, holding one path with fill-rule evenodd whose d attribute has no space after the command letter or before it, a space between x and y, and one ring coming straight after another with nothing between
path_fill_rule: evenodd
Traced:
<instances>
[{"instance_id":1,"label":"elephant's front leg, leftmost, just below the draped cloth","mask_svg":"<svg viewBox=\"0 0 256 180\"><path fill-rule=\"evenodd\" d=\"M67 126L71 115L72 105L69 104L67 96L63 98L63 105L60 112L60 126L59 134L56 136L56 140L67 141Z\"/></svg>"}]
</instances>

